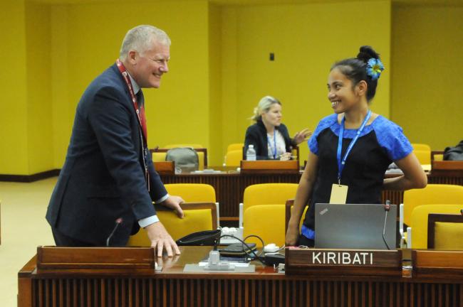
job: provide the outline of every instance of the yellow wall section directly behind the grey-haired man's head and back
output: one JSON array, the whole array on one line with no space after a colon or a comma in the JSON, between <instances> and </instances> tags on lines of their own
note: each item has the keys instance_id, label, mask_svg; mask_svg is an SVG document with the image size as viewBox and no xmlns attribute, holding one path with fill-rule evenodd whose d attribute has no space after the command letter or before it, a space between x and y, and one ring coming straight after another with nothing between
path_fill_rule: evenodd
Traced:
<instances>
[{"instance_id":1,"label":"yellow wall section directly behind the grey-haired man's head and back","mask_svg":"<svg viewBox=\"0 0 463 307\"><path fill-rule=\"evenodd\" d=\"M170 72L159 90L145 90L148 144L199 143L209 146L209 58L207 1L162 1L135 5L118 3L58 6L52 10L54 88L53 131L59 132L54 151L55 167L66 156L76 105L89 82L118 58L120 43L129 28L153 24L171 40ZM124 18L120 18L124 12ZM104 16L104 18L102 18ZM66 70L61 67L64 65ZM64 80L60 80L63 75ZM61 99L59 99L61 98ZM63 105L65 104L65 105ZM63 122L66 120L66 122Z\"/></svg>"}]
</instances>

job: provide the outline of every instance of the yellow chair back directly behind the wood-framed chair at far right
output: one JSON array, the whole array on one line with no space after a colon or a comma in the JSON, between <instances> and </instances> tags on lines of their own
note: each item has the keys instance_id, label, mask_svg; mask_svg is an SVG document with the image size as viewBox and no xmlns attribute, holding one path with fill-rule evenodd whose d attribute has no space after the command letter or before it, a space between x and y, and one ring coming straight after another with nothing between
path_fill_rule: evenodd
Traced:
<instances>
[{"instance_id":1,"label":"yellow chair back directly behind the wood-framed chair at far right","mask_svg":"<svg viewBox=\"0 0 463 307\"><path fill-rule=\"evenodd\" d=\"M412 227L407 228L407 247L412 249L427 248L427 221L430 213L457 214L463 209L463 204L420 205L413 209ZM454 238L461 241L462 237Z\"/></svg>"}]
</instances>

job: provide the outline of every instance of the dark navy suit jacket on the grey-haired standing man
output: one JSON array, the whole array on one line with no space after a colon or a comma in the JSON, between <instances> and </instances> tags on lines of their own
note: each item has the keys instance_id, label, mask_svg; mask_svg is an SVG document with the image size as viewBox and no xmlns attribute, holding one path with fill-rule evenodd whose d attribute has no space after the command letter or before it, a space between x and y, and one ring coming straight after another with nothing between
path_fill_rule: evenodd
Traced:
<instances>
[{"instance_id":1,"label":"dark navy suit jacket on the grey-haired standing man","mask_svg":"<svg viewBox=\"0 0 463 307\"><path fill-rule=\"evenodd\" d=\"M140 126L127 85L116 65L87 87L76 110L66 161L46 219L58 231L90 244L112 237L125 244L137 220L155 215L152 200L167 194L148 155L151 192L142 162Z\"/></svg>"}]
</instances>

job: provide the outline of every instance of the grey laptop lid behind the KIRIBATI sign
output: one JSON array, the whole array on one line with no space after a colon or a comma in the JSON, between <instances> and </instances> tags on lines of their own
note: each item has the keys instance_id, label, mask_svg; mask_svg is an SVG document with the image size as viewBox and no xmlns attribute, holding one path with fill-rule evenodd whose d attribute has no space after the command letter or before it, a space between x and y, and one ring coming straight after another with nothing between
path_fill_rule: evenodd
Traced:
<instances>
[{"instance_id":1,"label":"grey laptop lid behind the KIRIBATI sign","mask_svg":"<svg viewBox=\"0 0 463 307\"><path fill-rule=\"evenodd\" d=\"M395 249L397 205L387 212L378 204L315 204L315 247ZM385 241L383 228L385 227Z\"/></svg>"}]
</instances>

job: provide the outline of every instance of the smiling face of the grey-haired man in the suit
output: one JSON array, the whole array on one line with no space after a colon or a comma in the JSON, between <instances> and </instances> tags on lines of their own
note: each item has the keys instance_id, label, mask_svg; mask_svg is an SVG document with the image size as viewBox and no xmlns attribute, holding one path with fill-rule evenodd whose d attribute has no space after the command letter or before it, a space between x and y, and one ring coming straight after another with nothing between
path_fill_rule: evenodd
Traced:
<instances>
[{"instance_id":1,"label":"smiling face of the grey-haired man in the suit","mask_svg":"<svg viewBox=\"0 0 463 307\"><path fill-rule=\"evenodd\" d=\"M140 87L160 87L162 75L169 71L167 62L170 60L170 47L155 42L144 52L135 51L130 57L130 74L137 84Z\"/></svg>"}]
</instances>

